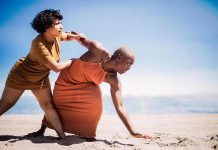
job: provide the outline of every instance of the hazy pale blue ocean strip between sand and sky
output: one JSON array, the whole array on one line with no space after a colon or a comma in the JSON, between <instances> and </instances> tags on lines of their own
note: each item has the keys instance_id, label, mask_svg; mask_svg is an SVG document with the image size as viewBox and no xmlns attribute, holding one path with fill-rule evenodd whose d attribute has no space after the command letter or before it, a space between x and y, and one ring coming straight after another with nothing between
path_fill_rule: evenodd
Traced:
<instances>
[{"instance_id":1,"label":"hazy pale blue ocean strip between sand and sky","mask_svg":"<svg viewBox=\"0 0 218 150\"><path fill-rule=\"evenodd\" d=\"M218 113L218 96L124 97L129 114ZM103 96L103 113L116 114L112 99ZM22 96L6 114L43 114L33 96Z\"/></svg>"}]
</instances>

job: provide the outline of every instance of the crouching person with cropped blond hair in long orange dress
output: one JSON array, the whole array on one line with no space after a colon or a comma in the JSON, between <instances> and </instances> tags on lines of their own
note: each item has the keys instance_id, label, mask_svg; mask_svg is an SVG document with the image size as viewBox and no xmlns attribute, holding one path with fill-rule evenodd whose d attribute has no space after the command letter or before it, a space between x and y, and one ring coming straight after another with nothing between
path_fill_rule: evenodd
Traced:
<instances>
[{"instance_id":1,"label":"crouching person with cropped blond hair in long orange dress","mask_svg":"<svg viewBox=\"0 0 218 150\"><path fill-rule=\"evenodd\" d=\"M110 84L110 93L117 114L130 132L137 138L149 138L136 132L123 107L119 74L128 71L135 61L128 47L120 47L111 56L99 42L80 38L79 42L88 51L66 69L62 70L55 82L54 105L60 115L65 132L86 139L96 136L96 129L102 113L102 95L99 84ZM43 119L41 129L31 136L42 135L46 127L53 128Z\"/></svg>"}]
</instances>

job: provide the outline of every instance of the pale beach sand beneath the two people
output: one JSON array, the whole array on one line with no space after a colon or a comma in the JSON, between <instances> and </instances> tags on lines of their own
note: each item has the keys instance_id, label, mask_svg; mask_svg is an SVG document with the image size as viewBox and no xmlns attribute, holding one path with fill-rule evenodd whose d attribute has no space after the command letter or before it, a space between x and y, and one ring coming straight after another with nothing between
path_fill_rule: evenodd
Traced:
<instances>
[{"instance_id":1,"label":"pale beach sand beneath the two people","mask_svg":"<svg viewBox=\"0 0 218 150\"><path fill-rule=\"evenodd\" d=\"M27 138L40 127L42 115L3 115L0 118L0 150L218 150L218 114L131 115L134 127L152 135L151 140L130 136L117 115L104 114L97 141L73 134L58 140L48 129L43 137Z\"/></svg>"}]
</instances>

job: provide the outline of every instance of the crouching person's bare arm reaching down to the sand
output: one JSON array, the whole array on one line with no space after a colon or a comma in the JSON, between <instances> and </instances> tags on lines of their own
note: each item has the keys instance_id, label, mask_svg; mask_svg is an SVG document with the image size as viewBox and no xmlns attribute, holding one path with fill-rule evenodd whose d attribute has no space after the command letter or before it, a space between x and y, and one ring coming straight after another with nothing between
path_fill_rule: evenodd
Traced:
<instances>
[{"instance_id":1,"label":"crouching person's bare arm reaching down to the sand","mask_svg":"<svg viewBox=\"0 0 218 150\"><path fill-rule=\"evenodd\" d=\"M148 135L142 135L138 132L136 132L130 122L129 116L123 106L122 98L121 98L121 84L116 76L109 77L106 79L106 82L109 82L111 85L111 97L113 100L113 104L115 106L115 109L117 111L117 114L119 115L120 119L128 129L129 133L136 137L136 138L151 138Z\"/></svg>"}]
</instances>

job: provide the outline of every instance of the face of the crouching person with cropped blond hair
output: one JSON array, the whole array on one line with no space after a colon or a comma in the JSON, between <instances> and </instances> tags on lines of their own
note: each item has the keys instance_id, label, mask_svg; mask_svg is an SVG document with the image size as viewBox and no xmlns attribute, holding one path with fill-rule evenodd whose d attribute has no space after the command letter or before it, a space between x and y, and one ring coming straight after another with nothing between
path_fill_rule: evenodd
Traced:
<instances>
[{"instance_id":1,"label":"face of the crouching person with cropped blond hair","mask_svg":"<svg viewBox=\"0 0 218 150\"><path fill-rule=\"evenodd\" d=\"M134 57L120 58L120 61L117 64L117 72L119 74L123 74L127 72L133 63L134 63Z\"/></svg>"}]
</instances>

